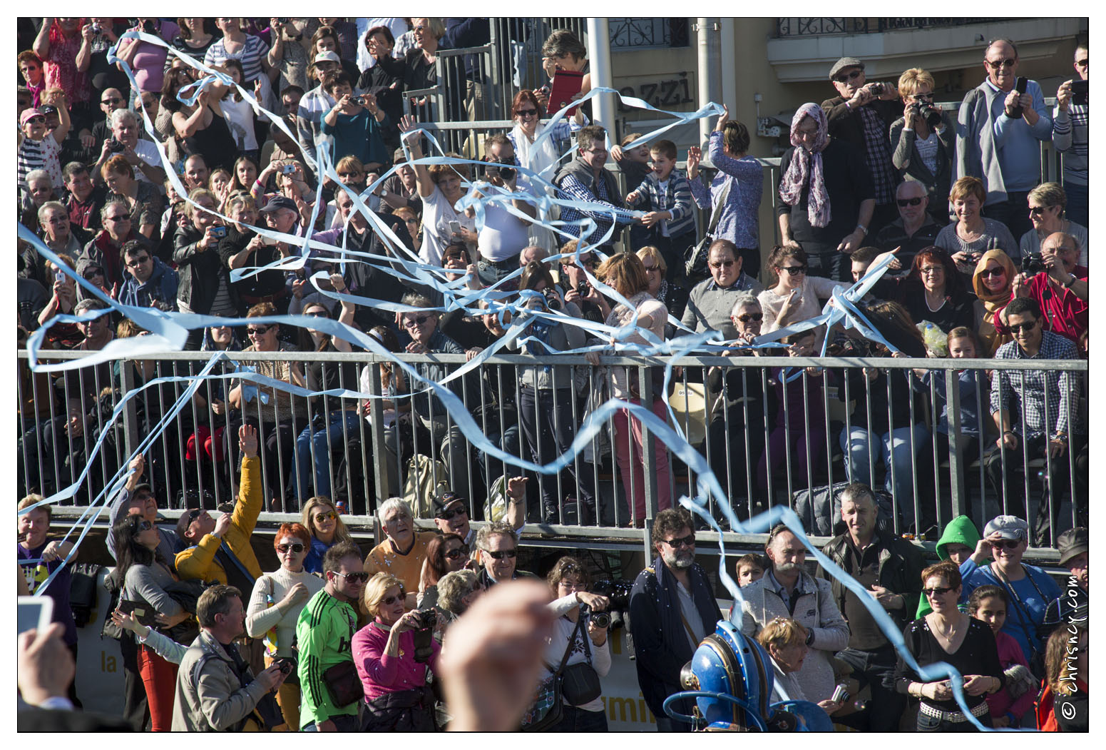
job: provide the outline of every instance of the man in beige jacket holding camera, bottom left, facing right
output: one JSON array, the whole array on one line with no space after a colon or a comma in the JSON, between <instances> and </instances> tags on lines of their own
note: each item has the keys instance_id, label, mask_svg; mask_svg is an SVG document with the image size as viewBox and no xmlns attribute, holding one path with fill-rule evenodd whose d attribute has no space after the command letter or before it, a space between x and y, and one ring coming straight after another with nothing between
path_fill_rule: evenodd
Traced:
<instances>
[{"instance_id":1,"label":"man in beige jacket holding camera, bottom left, facing right","mask_svg":"<svg viewBox=\"0 0 1106 750\"><path fill-rule=\"evenodd\" d=\"M242 731L264 729L274 717L255 711L268 694L284 683L274 663L257 677L238 653L234 638L246 632L242 595L233 586L211 586L196 603L200 634L177 670L173 731Z\"/></svg>"}]
</instances>

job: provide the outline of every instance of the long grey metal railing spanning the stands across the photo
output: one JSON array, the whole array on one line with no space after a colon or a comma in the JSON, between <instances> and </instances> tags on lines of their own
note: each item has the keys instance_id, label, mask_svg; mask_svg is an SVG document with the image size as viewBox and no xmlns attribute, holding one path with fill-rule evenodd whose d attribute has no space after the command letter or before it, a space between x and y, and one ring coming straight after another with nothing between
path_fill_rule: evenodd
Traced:
<instances>
[{"instance_id":1,"label":"long grey metal railing spanning the stands across the photo","mask_svg":"<svg viewBox=\"0 0 1106 750\"><path fill-rule=\"evenodd\" d=\"M84 353L48 354L51 360L70 360ZM156 377L189 378L209 356L167 353L154 362L118 362L108 375L98 372L101 366L32 376L25 352L20 352L19 491L51 494L69 486L88 465L87 480L73 498L62 502L87 506L144 438L155 433L157 419L173 407L187 382L140 392L121 419L109 424L108 415L121 396ZM234 352L230 356L234 363L251 366L289 361L288 353L280 352ZM530 522L551 533L596 538L634 533L618 529L643 515L651 521L658 510L681 494L697 491L697 472L670 449L640 449L653 445L648 429L634 428L640 437L635 436L632 446L627 438L632 425L625 419L602 425L587 448L560 473L533 475L504 468L478 450L440 402L426 394L382 403L379 397L404 389L386 390L389 381L382 379L380 367L389 365L374 355L303 352L294 356L309 371L317 371L315 376L323 381L328 368L355 367L362 388L377 398L356 412L362 406L356 399L320 395L309 404L292 397L296 404L291 416L273 420L268 416L271 406L262 407L255 397L240 410L230 408L227 395L234 387L232 381L208 381L200 397L186 404L146 447L146 478L155 486L163 508L215 508L232 501L241 424L257 425L260 430L267 512L298 514L307 498L320 493L344 502L354 518L367 517L382 499L398 494L411 501L419 517L429 518L431 494L448 487L468 498L473 520L487 520L502 510L502 488L497 480L526 473L531 477L526 501ZM460 355L405 354L400 358L418 368L438 367L439 381L465 363ZM605 371L576 355L497 355L469 375L451 381L449 388L494 445L512 456L547 462L571 442L589 407L606 400L599 394L609 373L617 371L622 378L625 368L643 403L653 403L659 387L654 373L664 363L612 356L604 360L609 367ZM954 515L968 514L981 529L1002 512L1026 518L1037 530L1047 525L1044 539L1046 545L1054 546L1060 530L1075 521L1085 523L1086 444L1078 437L1083 435L1078 425L1085 425L1086 418L1081 414L1085 399L1081 400L1077 392L1072 394L1073 428L1062 458L1024 454L1024 444L990 456L997 436L990 418L989 381L978 376L964 390L958 371L1019 371L1021 363L1016 361L958 360L957 371L943 369L950 361L938 364L905 358L685 357L674 364L681 371L674 378L670 403L675 419L669 421L678 425L707 459L739 518L786 503L804 519L812 535L831 535L836 511L820 488L855 479L888 488L896 533L921 531L935 539ZM943 368L930 369L925 379L912 373L915 367L935 365ZM1034 373L1073 374L1073 389L1078 388L1087 369L1083 361L1033 365ZM822 369L807 372L807 366ZM521 371L526 367L563 367L556 377L567 375L562 382L572 386L535 392L523 384ZM885 384L873 386L862 376L863 367L887 374ZM232 372L233 365L226 371ZM1019 377L1012 374L1013 382ZM86 396L93 393L98 396L95 407L88 406ZM289 399L283 393L272 397ZM909 424L904 425L896 421L893 410L901 413L891 405L905 399L910 406ZM413 403L411 412L405 413L405 400ZM69 429L63 404L72 407L74 427ZM385 414L387 406L398 410ZM880 409L888 413L883 415ZM1024 435L1024 409L1019 412L1015 430ZM974 433L966 425L972 414L979 426ZM886 457L886 465L879 466L883 449L877 444L881 436L856 430L883 418L896 428L910 429L902 438L907 447L896 448ZM1046 423L1054 418L1046 409ZM94 440L105 431L102 449L91 458ZM957 437L951 447L949 435ZM864 459L865 448L874 454L870 460ZM629 462L620 460L627 455ZM1004 463L1012 468L1003 472ZM1019 468L1020 463L1026 468ZM635 467L640 471L635 472ZM587 498L594 498L594 514L584 510ZM1065 510L1071 498L1076 501ZM714 499L708 508L716 518L723 518ZM1046 524L1047 519L1052 522Z\"/></svg>"}]
</instances>

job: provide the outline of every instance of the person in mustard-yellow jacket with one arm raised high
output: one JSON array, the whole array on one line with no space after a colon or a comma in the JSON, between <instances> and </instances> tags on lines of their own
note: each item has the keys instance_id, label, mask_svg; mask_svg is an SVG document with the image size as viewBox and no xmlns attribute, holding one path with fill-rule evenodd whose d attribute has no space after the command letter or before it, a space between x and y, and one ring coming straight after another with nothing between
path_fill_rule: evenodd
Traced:
<instances>
[{"instance_id":1,"label":"person in mustard-yellow jacket with one arm raised high","mask_svg":"<svg viewBox=\"0 0 1106 750\"><path fill-rule=\"evenodd\" d=\"M189 546L177 553L176 564L181 579L218 581L239 591L253 591L261 565L250 546L250 534L258 523L263 497L255 427L239 427L238 447L242 451L242 476L234 511L223 513L218 521L202 508L182 513L177 535Z\"/></svg>"}]
</instances>

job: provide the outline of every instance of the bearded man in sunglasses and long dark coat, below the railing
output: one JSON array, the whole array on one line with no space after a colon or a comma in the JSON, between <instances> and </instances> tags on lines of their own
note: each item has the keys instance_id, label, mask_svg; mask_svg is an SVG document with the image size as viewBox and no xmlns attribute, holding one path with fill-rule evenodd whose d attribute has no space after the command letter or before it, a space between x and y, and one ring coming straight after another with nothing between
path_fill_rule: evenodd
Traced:
<instances>
[{"instance_id":1,"label":"bearded man in sunglasses and long dark coat, below the railing","mask_svg":"<svg viewBox=\"0 0 1106 750\"><path fill-rule=\"evenodd\" d=\"M680 669L722 613L707 572L695 562L691 514L682 508L660 511L651 539L660 564L654 561L638 573L629 594L637 683L657 731L690 731L689 725L669 719L662 705L680 690Z\"/></svg>"}]
</instances>

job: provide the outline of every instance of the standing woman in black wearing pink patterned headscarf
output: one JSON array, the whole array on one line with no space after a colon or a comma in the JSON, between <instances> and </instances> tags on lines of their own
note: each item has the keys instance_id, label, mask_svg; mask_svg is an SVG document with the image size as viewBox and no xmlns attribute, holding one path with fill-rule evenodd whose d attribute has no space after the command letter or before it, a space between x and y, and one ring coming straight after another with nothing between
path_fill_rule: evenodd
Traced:
<instances>
[{"instance_id":1,"label":"standing woman in black wearing pink patterned headscarf","mask_svg":"<svg viewBox=\"0 0 1106 750\"><path fill-rule=\"evenodd\" d=\"M791 121L778 189L783 247L803 248L811 274L848 281L846 256L868 233L875 189L860 152L830 137L825 113L814 103L799 107Z\"/></svg>"}]
</instances>

